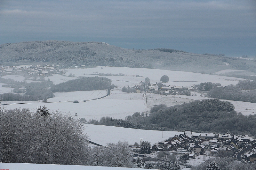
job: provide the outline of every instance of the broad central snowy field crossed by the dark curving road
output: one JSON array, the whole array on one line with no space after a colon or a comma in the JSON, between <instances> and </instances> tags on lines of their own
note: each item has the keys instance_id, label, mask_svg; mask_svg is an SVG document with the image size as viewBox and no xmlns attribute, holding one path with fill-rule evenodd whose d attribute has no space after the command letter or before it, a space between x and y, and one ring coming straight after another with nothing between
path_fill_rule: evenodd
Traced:
<instances>
[{"instance_id":1,"label":"broad central snowy field crossed by the dark curving road","mask_svg":"<svg viewBox=\"0 0 256 170\"><path fill-rule=\"evenodd\" d=\"M59 110L63 113L70 113L71 115L77 113L77 118L85 118L86 120L100 120L102 116L124 119L127 115L148 110L146 101L143 99L143 93L121 93L120 91L114 91L106 98L91 100L105 96L107 90L58 92L54 93L55 97L48 99L47 102L4 101L1 104L4 104L5 109L28 108L31 111L35 111L37 107L45 106L50 111ZM79 100L79 103L73 103L74 100ZM84 102L84 100L87 101ZM9 103L12 104L6 105Z\"/></svg>"}]
</instances>

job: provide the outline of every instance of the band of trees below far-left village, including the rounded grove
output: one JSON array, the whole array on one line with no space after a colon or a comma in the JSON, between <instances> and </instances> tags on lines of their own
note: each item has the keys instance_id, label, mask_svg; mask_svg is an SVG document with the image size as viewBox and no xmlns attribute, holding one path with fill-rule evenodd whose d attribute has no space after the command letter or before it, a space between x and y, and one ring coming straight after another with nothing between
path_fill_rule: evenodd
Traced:
<instances>
[{"instance_id":1,"label":"band of trees below far-left village, including the rounded grove","mask_svg":"<svg viewBox=\"0 0 256 170\"><path fill-rule=\"evenodd\" d=\"M2 101L38 101L54 97L53 92L103 90L114 86L108 78L100 77L77 78L58 85L54 85L50 79L27 83L26 80L19 82L0 78L0 83L7 83L3 87L15 87L12 90L14 93L0 94Z\"/></svg>"}]
</instances>

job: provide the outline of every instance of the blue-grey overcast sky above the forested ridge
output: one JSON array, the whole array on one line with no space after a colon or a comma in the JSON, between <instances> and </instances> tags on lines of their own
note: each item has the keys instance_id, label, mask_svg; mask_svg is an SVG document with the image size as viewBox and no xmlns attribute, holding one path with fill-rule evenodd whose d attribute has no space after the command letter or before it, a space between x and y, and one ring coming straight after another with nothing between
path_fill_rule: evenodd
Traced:
<instances>
[{"instance_id":1,"label":"blue-grey overcast sky above the forested ridge","mask_svg":"<svg viewBox=\"0 0 256 170\"><path fill-rule=\"evenodd\" d=\"M254 57L256 1L0 0L0 44L35 40Z\"/></svg>"}]
</instances>

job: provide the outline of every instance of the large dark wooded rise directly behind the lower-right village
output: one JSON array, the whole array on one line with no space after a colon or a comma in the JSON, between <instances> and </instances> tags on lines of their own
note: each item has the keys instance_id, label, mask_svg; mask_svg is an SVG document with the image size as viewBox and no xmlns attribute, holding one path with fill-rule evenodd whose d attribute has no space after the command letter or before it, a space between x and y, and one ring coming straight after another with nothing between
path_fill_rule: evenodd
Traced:
<instances>
[{"instance_id":1,"label":"large dark wooded rise directly behind the lower-right village","mask_svg":"<svg viewBox=\"0 0 256 170\"><path fill-rule=\"evenodd\" d=\"M193 101L174 107L152 108L150 123L172 130L198 130L255 135L256 115L242 115L234 111L228 101L218 99ZM156 111L157 110L157 111Z\"/></svg>"}]
</instances>

